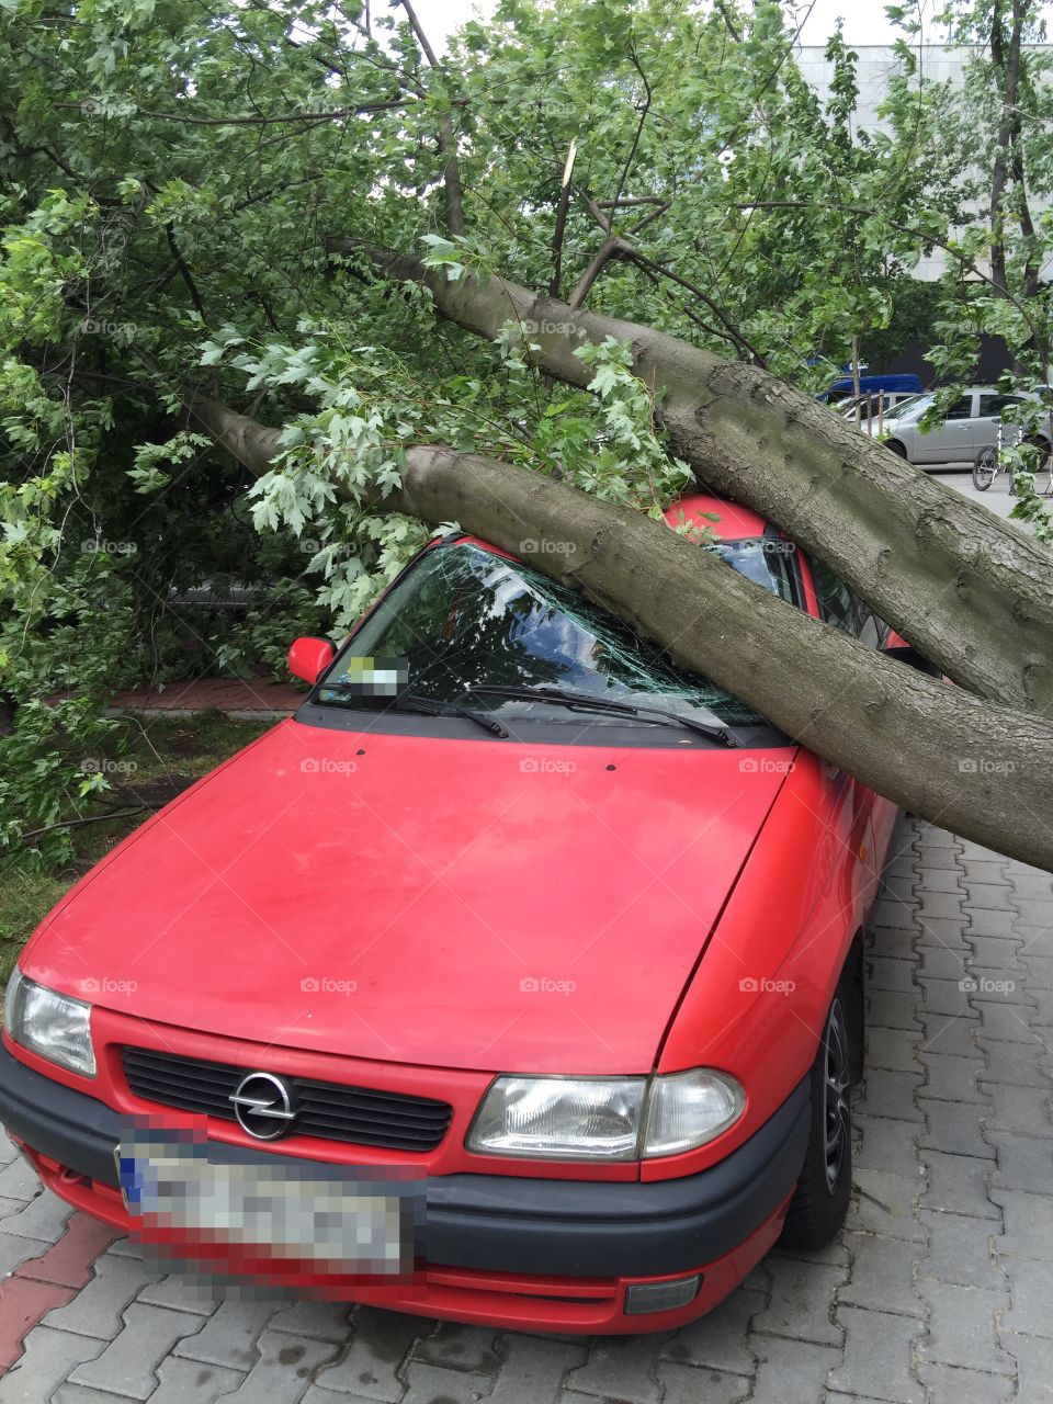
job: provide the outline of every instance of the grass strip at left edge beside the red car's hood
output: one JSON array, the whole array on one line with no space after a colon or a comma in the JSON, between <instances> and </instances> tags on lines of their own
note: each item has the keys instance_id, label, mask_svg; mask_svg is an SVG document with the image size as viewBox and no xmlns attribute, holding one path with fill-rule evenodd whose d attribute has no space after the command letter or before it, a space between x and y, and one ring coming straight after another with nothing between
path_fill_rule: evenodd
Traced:
<instances>
[{"instance_id":1,"label":"grass strip at left edge beside the red car's hood","mask_svg":"<svg viewBox=\"0 0 1053 1404\"><path fill-rule=\"evenodd\" d=\"M117 774L111 781L121 790L153 783L180 785L215 769L234 751L274 726L272 720L244 722L223 712L197 712L192 716L122 719L128 727L119 760L133 762L132 774ZM112 797L107 797L112 803ZM102 819L70 830L74 858L62 870L6 866L0 873L0 988L18 959L34 928L73 883L104 858L139 824L152 809L128 817Z\"/></svg>"}]
</instances>

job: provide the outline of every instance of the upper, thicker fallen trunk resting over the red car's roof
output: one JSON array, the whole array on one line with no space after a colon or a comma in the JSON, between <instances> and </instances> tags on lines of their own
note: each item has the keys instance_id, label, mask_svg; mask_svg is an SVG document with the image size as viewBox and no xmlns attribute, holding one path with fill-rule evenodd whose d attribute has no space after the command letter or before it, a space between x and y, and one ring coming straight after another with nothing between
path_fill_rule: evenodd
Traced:
<instances>
[{"instance_id":1,"label":"upper, thicker fallen trunk resting over the red car's roof","mask_svg":"<svg viewBox=\"0 0 1053 1404\"><path fill-rule=\"evenodd\" d=\"M574 310L503 278L449 281L420 258L330 249L425 284L439 313L487 338L518 322L549 375L584 388L574 351L612 336L660 392L656 414L699 480L782 526L925 657L979 696L1053 713L1053 553L807 395L633 322Z\"/></svg>"}]
</instances>

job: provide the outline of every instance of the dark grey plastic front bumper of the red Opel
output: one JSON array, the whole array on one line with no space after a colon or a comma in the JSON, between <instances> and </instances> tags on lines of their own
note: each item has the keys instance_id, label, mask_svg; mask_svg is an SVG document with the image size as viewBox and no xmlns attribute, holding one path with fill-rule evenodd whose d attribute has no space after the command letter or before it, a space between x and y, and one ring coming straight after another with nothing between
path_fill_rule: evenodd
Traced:
<instances>
[{"instance_id":1,"label":"dark grey plastic front bumper of the red Opel","mask_svg":"<svg viewBox=\"0 0 1053 1404\"><path fill-rule=\"evenodd\" d=\"M125 1116L34 1071L0 1045L0 1122L38 1158L59 1167L53 1184L59 1193L114 1221L114 1206L121 1205L114 1148L128 1132ZM709 1170L681 1179L431 1177L425 1184L428 1272L622 1280L705 1269L733 1257L779 1216L800 1174L807 1137L804 1078L748 1141ZM223 1146L223 1158L284 1161L291 1175L310 1164L232 1146ZM84 1198L88 1182L98 1198L94 1206ZM630 1317L622 1330L642 1325ZM607 1327L612 1328L618 1327Z\"/></svg>"}]
</instances>

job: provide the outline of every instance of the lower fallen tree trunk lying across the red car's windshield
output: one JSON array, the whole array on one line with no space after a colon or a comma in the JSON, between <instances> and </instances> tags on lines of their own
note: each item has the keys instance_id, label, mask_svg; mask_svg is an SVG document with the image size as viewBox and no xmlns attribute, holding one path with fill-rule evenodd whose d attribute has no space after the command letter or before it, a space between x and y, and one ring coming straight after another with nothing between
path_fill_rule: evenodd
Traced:
<instances>
[{"instance_id":1,"label":"lower fallen tree trunk lying across the red car's windshield","mask_svg":"<svg viewBox=\"0 0 1053 1404\"><path fill-rule=\"evenodd\" d=\"M215 400L198 423L254 473L277 431ZM681 664L915 814L1053 870L1053 724L868 649L661 522L494 459L410 448L378 503L461 525L621 615ZM538 543L560 542L560 552ZM532 555L531 543L534 543Z\"/></svg>"}]
</instances>

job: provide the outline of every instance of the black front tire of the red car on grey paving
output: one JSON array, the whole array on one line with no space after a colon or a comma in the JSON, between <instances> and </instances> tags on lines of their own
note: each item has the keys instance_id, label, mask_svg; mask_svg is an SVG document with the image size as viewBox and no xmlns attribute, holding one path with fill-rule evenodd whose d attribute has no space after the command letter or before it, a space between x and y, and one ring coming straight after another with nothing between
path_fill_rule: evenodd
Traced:
<instances>
[{"instance_id":1,"label":"black front tire of the red car on grey paving","mask_svg":"<svg viewBox=\"0 0 1053 1404\"><path fill-rule=\"evenodd\" d=\"M779 1245L821 1248L838 1233L852 1193L852 990L848 972L834 994L812 1064L812 1130Z\"/></svg>"}]
</instances>

